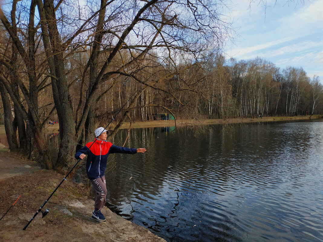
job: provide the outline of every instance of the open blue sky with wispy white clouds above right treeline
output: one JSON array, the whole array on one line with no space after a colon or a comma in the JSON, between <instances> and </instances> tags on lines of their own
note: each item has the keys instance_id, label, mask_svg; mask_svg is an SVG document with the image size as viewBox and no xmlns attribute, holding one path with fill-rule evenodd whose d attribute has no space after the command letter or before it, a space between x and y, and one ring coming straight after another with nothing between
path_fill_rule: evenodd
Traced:
<instances>
[{"instance_id":1,"label":"open blue sky with wispy white clouds above right treeline","mask_svg":"<svg viewBox=\"0 0 323 242\"><path fill-rule=\"evenodd\" d=\"M260 56L281 69L303 67L307 76L317 75L323 83L323 1L277 0L274 5L274 0L256 0L249 7L250 2L226 2L230 11L225 14L235 30L227 58Z\"/></svg>"}]
</instances>

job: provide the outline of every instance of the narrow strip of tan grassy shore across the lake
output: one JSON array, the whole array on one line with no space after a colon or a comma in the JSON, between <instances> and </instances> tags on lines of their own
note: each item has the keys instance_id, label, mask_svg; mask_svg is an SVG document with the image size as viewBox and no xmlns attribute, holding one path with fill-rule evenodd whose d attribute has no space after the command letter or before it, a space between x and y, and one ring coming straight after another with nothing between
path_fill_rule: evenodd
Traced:
<instances>
[{"instance_id":1,"label":"narrow strip of tan grassy shore across the lake","mask_svg":"<svg viewBox=\"0 0 323 242\"><path fill-rule=\"evenodd\" d=\"M228 119L177 119L176 126L198 126L198 125L212 125L212 124L235 124L235 123L252 123L252 122L270 122L270 121L284 121L284 120L309 120L323 118L323 115L306 115L306 116L268 116L262 118L228 118ZM111 124L109 129L113 128L115 124ZM130 122L125 121L121 128L129 128ZM153 121L135 121L131 122L131 128L148 128L148 127L164 127L175 126L175 120L153 120ZM59 132L59 124L48 125L45 130L47 132Z\"/></svg>"}]
</instances>

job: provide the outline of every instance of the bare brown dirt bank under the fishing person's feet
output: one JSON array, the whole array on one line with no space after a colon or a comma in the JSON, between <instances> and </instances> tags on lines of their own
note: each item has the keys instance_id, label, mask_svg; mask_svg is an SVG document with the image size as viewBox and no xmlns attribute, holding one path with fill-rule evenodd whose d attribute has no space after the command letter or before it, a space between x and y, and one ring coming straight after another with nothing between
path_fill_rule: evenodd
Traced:
<instances>
[{"instance_id":1,"label":"bare brown dirt bank under the fishing person's feet","mask_svg":"<svg viewBox=\"0 0 323 242\"><path fill-rule=\"evenodd\" d=\"M0 152L0 217L21 195L0 221L0 241L24 242L161 242L148 229L131 223L102 209L107 222L90 219L94 201L81 184L64 181L43 208L50 212L44 218L41 213L24 231L36 210L64 177L54 171L40 170L34 162L21 159L9 152Z\"/></svg>"}]
</instances>

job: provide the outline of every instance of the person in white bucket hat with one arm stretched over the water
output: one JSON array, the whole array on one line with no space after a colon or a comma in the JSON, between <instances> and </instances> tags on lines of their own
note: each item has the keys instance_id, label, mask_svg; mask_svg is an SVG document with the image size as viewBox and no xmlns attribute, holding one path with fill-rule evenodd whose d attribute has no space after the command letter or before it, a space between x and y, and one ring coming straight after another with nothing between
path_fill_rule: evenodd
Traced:
<instances>
[{"instance_id":1,"label":"person in white bucket hat with one arm stretched over the water","mask_svg":"<svg viewBox=\"0 0 323 242\"><path fill-rule=\"evenodd\" d=\"M105 130L103 127L97 128L94 131L96 137L94 143L87 143L75 154L76 159L83 159L88 155L86 161L86 174L96 191L94 210L91 219L100 223L106 222L104 215L101 213L101 209L104 207L107 196L104 172L107 167L108 155L113 153L136 154L144 153L146 151L145 148L135 149L113 145L112 143L107 142L107 132L109 131ZM91 146L92 143L93 145Z\"/></svg>"}]
</instances>

